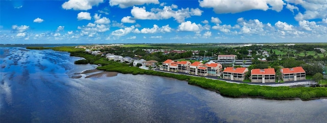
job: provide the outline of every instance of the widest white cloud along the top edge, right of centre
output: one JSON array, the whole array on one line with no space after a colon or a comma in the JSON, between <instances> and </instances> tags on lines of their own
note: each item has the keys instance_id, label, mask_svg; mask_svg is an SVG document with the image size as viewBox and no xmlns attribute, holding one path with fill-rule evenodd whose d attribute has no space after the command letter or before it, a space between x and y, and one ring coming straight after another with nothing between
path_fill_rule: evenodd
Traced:
<instances>
[{"instance_id":1,"label":"widest white cloud along the top edge, right of centre","mask_svg":"<svg viewBox=\"0 0 327 123\"><path fill-rule=\"evenodd\" d=\"M200 7L213 8L216 13L239 13L248 10L274 10L280 12L285 3L283 0L203 0L199 1Z\"/></svg>"}]
</instances>

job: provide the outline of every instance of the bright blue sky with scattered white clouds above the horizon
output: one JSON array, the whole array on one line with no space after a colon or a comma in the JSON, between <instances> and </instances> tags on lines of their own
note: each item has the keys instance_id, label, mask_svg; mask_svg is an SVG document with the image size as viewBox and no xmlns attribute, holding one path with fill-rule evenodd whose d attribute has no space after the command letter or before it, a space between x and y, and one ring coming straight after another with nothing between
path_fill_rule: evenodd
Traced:
<instances>
[{"instance_id":1,"label":"bright blue sky with scattered white clouds above the horizon","mask_svg":"<svg viewBox=\"0 0 327 123\"><path fill-rule=\"evenodd\" d=\"M0 1L0 43L327 42L325 0Z\"/></svg>"}]
</instances>

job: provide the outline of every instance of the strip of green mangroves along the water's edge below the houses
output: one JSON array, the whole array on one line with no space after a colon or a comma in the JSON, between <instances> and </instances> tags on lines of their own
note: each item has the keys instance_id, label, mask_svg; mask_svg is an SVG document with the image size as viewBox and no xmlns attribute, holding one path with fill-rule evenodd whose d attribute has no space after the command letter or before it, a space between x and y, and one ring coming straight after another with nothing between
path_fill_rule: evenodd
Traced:
<instances>
[{"instance_id":1,"label":"strip of green mangroves along the water's edge below the houses","mask_svg":"<svg viewBox=\"0 0 327 123\"><path fill-rule=\"evenodd\" d=\"M154 70L145 70L138 67L130 66L129 64L108 61L107 59L87 54L79 48L69 47L51 47L53 50L66 51L71 53L71 56L83 57L85 60L79 62L87 62L90 64L101 64L97 69L105 71L116 71L120 73L131 73L133 75L153 75L160 77L175 78L178 80L187 81L191 85L196 85L202 88L211 89L219 92L221 95L228 97L263 97L266 99L294 99L311 100L319 97L327 97L327 88L325 87L270 87L248 84L227 83L220 80L207 79L203 77L193 77L187 75L178 75L175 73L160 72Z\"/></svg>"}]
</instances>

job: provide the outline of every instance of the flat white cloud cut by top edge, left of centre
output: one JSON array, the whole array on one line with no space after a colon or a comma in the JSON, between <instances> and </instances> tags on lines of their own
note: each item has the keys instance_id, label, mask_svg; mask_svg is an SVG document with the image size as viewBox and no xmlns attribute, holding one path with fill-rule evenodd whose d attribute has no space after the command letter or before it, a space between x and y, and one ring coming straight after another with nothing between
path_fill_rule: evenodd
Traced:
<instances>
[{"instance_id":1,"label":"flat white cloud cut by top edge, left of centre","mask_svg":"<svg viewBox=\"0 0 327 123\"><path fill-rule=\"evenodd\" d=\"M132 7L134 5L159 4L158 0L110 0L110 6L119 6L120 8Z\"/></svg>"}]
</instances>

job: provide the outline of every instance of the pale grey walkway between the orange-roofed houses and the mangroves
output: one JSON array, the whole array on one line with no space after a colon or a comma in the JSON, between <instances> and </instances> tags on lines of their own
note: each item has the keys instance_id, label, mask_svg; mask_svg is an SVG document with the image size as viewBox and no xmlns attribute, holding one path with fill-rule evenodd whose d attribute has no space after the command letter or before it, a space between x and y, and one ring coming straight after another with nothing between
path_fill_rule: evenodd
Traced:
<instances>
[{"instance_id":1,"label":"pale grey walkway between the orange-roofed houses and the mangroves","mask_svg":"<svg viewBox=\"0 0 327 123\"><path fill-rule=\"evenodd\" d=\"M155 70L159 72L167 72L167 73L174 73L176 75L186 75L186 76L193 76L193 77L203 77L203 76L194 76L194 75L189 75L187 73L176 73L176 72L169 72L169 71L162 71L162 70ZM259 86L271 86L271 87L278 87L278 86L297 86L297 85L316 85L317 82L314 81L308 81L308 80L301 80L301 81L290 81L290 82L284 82L284 83L247 83L247 82L242 82L242 81L231 81L231 80L226 80L226 79L216 79L217 77L213 76L207 76L203 77L207 79L212 79L212 80L220 80L224 81L227 83L236 83L236 84L249 84L249 85L259 85Z\"/></svg>"}]
</instances>

